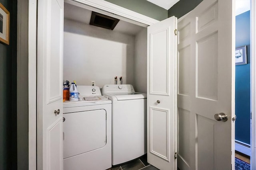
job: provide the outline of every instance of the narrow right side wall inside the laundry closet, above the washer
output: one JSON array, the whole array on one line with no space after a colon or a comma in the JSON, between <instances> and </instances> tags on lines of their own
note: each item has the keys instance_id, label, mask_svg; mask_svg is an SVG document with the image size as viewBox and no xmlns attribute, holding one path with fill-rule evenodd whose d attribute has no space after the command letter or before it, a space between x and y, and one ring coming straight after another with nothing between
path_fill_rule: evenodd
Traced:
<instances>
[{"instance_id":1,"label":"narrow right side wall inside the laundry closet, above the washer","mask_svg":"<svg viewBox=\"0 0 256 170\"><path fill-rule=\"evenodd\" d=\"M147 93L147 28L135 37L134 89Z\"/></svg>"}]
</instances>

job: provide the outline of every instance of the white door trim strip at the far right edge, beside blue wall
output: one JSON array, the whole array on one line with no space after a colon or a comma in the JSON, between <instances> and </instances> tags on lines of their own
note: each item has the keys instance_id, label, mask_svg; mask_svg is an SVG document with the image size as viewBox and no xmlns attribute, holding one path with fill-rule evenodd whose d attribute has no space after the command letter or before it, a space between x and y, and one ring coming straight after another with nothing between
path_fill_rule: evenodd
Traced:
<instances>
[{"instance_id":1,"label":"white door trim strip at the far right edge, beside blue wall","mask_svg":"<svg viewBox=\"0 0 256 170\"><path fill-rule=\"evenodd\" d=\"M256 167L256 2L251 0L250 7L250 56L251 56L251 170Z\"/></svg>"}]
</instances>

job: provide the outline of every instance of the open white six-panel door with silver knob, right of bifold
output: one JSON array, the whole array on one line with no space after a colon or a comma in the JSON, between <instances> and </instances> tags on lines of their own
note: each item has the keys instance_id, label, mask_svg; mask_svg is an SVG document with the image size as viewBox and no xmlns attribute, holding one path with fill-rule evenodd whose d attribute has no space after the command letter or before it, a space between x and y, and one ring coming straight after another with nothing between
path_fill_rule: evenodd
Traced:
<instances>
[{"instance_id":1,"label":"open white six-panel door with silver knob, right of bifold","mask_svg":"<svg viewBox=\"0 0 256 170\"><path fill-rule=\"evenodd\" d=\"M234 169L234 4L204 0L178 20L178 168ZM214 115L225 113L227 121Z\"/></svg>"}]
</instances>

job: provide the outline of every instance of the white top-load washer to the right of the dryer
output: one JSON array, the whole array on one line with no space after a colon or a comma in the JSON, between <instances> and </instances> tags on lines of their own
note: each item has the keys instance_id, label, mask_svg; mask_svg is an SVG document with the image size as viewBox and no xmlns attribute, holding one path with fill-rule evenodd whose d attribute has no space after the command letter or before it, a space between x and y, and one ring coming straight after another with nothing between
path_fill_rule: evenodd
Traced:
<instances>
[{"instance_id":1,"label":"white top-load washer to the right of the dryer","mask_svg":"<svg viewBox=\"0 0 256 170\"><path fill-rule=\"evenodd\" d=\"M112 165L146 154L146 94L129 84L111 84L102 95L112 100Z\"/></svg>"}]
</instances>

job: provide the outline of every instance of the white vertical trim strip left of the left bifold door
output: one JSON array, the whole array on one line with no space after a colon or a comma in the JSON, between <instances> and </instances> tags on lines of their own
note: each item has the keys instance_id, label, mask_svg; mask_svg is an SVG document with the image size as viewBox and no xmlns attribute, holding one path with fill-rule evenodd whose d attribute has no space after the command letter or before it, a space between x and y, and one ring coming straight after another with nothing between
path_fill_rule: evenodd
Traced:
<instances>
[{"instance_id":1,"label":"white vertical trim strip left of the left bifold door","mask_svg":"<svg viewBox=\"0 0 256 170\"><path fill-rule=\"evenodd\" d=\"M28 169L36 170L37 0L28 2Z\"/></svg>"}]
</instances>

